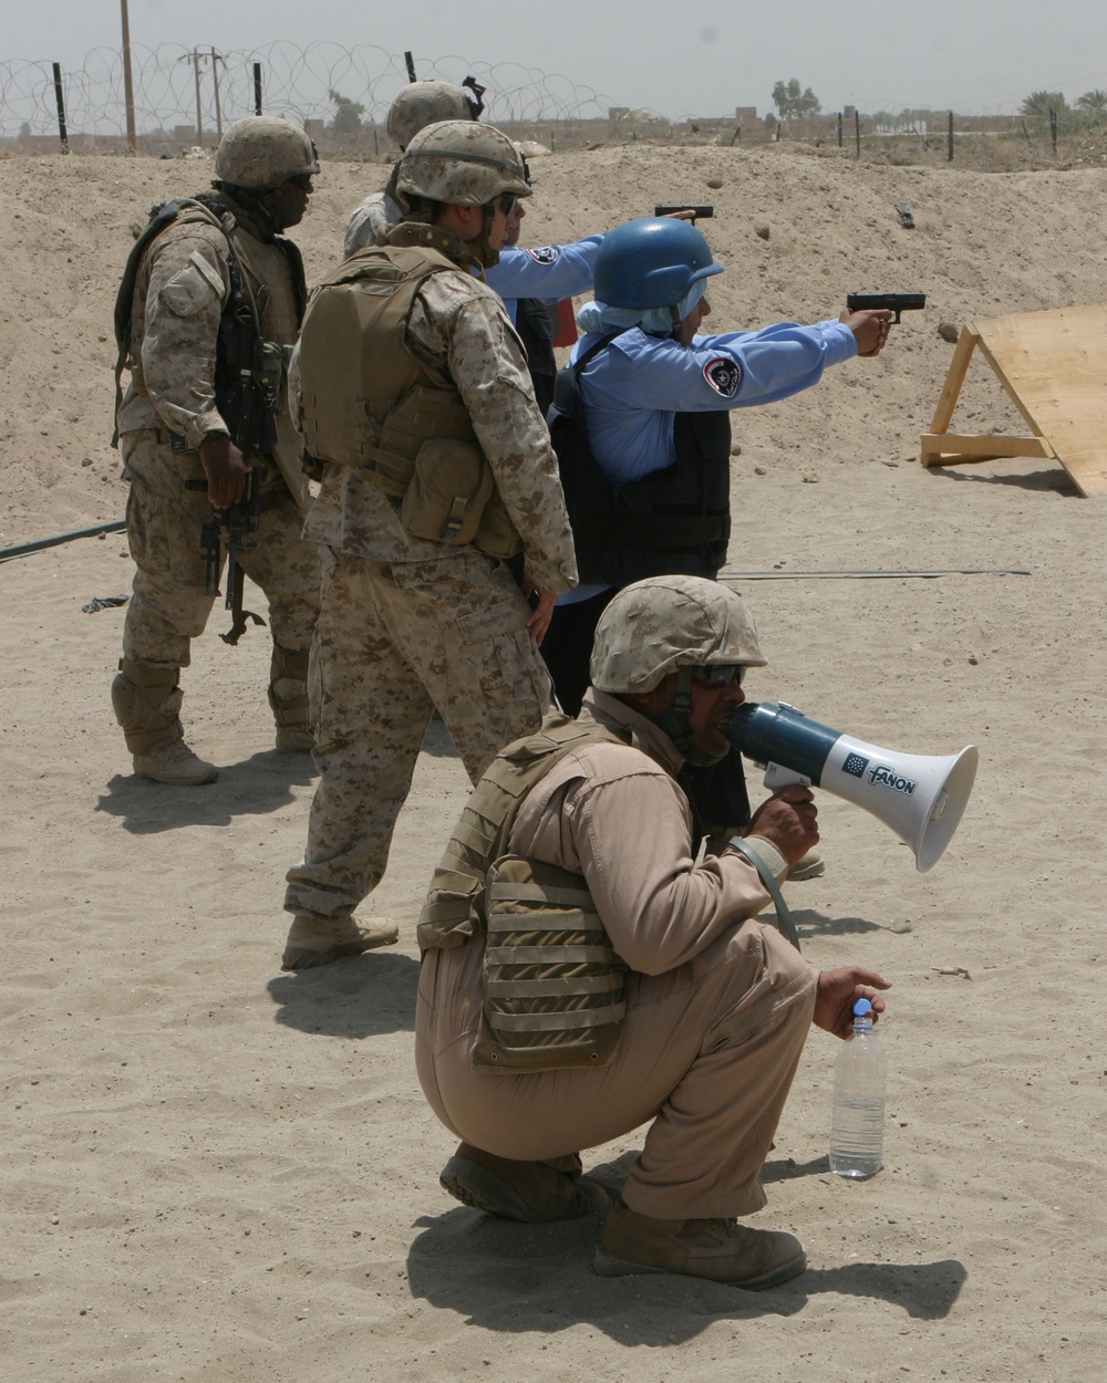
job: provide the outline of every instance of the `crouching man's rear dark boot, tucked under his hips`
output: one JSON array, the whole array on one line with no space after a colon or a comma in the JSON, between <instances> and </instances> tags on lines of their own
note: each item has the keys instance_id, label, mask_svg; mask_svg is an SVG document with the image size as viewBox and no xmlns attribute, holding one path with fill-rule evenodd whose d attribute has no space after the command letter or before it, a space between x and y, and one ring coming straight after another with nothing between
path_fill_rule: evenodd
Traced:
<instances>
[{"instance_id":1,"label":"crouching man's rear dark boot, tucked under his hips","mask_svg":"<svg viewBox=\"0 0 1107 1383\"><path fill-rule=\"evenodd\" d=\"M598 1181L580 1174L580 1158L558 1160L566 1166L515 1162L461 1142L439 1182L462 1205L523 1224L578 1220L606 1210L610 1198Z\"/></svg>"}]
</instances>

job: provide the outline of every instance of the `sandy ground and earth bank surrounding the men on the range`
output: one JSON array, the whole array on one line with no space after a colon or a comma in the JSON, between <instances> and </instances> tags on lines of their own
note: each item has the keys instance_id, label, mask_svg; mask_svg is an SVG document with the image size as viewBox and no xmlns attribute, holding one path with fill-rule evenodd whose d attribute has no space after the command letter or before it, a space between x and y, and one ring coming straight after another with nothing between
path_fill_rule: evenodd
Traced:
<instances>
[{"instance_id":1,"label":"sandy ground and earth bank surrounding the men on the range","mask_svg":"<svg viewBox=\"0 0 1107 1383\"><path fill-rule=\"evenodd\" d=\"M309 277L372 173L324 170L298 231ZM313 777L271 750L267 642L226 649L217 611L195 644L185 718L220 781L131 777L108 703L122 610L82 611L131 568L122 537L84 539L0 566L3 1373L1099 1380L1107 510L1054 465L915 458L952 353L940 322L1107 300L1107 174L649 148L536 174L533 243L711 199L721 328L811 321L851 289L930 295L879 361L735 427L731 568L775 578L736 581L771 658L751 696L905 751L981 752L933 873L823 795L827 873L789 891L812 963L895 982L886 1170L830 1177L836 1044L815 1033L764 1177L760 1221L798 1232L811 1263L785 1288L599 1279L595 1221L531 1229L450 1200L411 1028L414 920L466 790L451 747L429 736L378 891L400 945L282 975ZM127 227L206 177L0 160L0 545L122 514L108 437ZM1017 429L980 364L955 425ZM891 574L803 575L855 568ZM1030 574L911 575L951 568ZM585 1160L617 1171L639 1142Z\"/></svg>"}]
</instances>

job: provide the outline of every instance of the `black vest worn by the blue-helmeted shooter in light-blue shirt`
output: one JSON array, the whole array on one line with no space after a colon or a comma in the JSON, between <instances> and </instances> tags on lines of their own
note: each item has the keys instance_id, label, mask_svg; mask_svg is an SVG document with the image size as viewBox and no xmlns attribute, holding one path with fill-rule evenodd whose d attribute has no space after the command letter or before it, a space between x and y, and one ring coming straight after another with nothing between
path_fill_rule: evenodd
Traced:
<instances>
[{"instance_id":1,"label":"black vest worn by the blue-helmeted shooter in light-blue shirt","mask_svg":"<svg viewBox=\"0 0 1107 1383\"><path fill-rule=\"evenodd\" d=\"M677 414L674 465L610 481L588 443L580 372L616 335L558 371L549 414L580 579L609 586L659 575L714 579L731 537L731 415Z\"/></svg>"}]
</instances>

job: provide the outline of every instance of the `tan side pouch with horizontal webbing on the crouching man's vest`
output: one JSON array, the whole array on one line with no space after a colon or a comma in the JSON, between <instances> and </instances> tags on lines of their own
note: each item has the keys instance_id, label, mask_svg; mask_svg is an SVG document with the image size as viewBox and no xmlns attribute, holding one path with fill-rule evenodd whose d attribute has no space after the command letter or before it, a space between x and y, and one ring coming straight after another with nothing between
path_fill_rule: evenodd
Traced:
<instances>
[{"instance_id":1,"label":"tan side pouch with horizontal webbing on the crouching man's vest","mask_svg":"<svg viewBox=\"0 0 1107 1383\"><path fill-rule=\"evenodd\" d=\"M473 1065L605 1066L627 1012L625 971L583 875L518 855L487 874L484 1004Z\"/></svg>"}]
</instances>

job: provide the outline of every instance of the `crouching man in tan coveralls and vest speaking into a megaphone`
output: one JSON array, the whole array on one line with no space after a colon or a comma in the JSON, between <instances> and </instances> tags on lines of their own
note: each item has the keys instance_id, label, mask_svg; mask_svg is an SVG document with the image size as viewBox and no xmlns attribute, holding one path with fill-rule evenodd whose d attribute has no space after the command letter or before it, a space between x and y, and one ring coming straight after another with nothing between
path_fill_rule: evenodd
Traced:
<instances>
[{"instance_id":1,"label":"crouching man in tan coveralls and vest speaking into a megaphone","mask_svg":"<svg viewBox=\"0 0 1107 1383\"><path fill-rule=\"evenodd\" d=\"M581 1148L649 1123L607 1209L596 1271L774 1286L800 1241L736 1221L812 1021L847 1036L879 975L819 974L772 927L757 862L782 880L818 842L789 787L749 835L696 864L675 774L728 750L742 672L765 660L740 596L699 577L625 586L601 617L577 721L508 745L462 813L419 922L417 1065L462 1138L441 1182L505 1218L606 1207Z\"/></svg>"}]
</instances>

